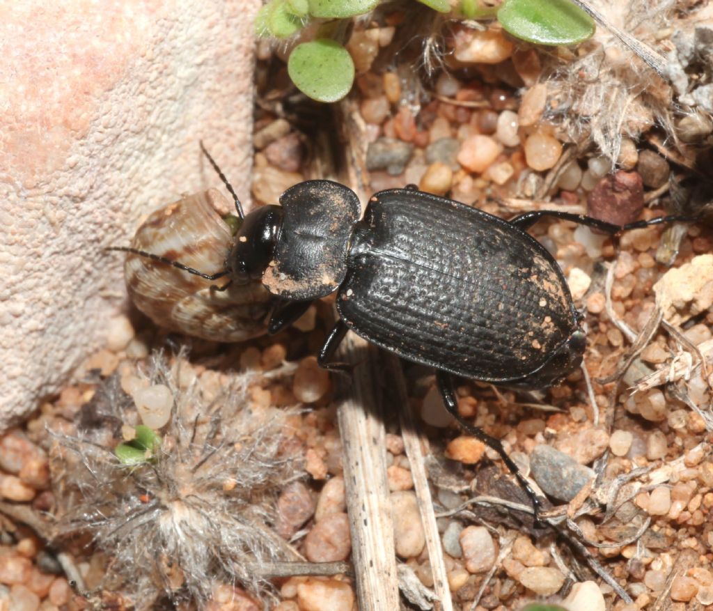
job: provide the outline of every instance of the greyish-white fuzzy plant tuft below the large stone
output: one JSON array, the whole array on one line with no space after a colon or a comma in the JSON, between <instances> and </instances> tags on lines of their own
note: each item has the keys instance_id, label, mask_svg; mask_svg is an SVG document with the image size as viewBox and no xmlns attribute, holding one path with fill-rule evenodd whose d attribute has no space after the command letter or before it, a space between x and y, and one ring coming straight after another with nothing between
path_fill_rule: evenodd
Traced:
<instances>
[{"instance_id":1,"label":"greyish-white fuzzy plant tuft below the large stone","mask_svg":"<svg viewBox=\"0 0 713 611\"><path fill-rule=\"evenodd\" d=\"M159 431L155 459L135 468L116 459L111 443L97 442L101 433L58 436L58 534L88 532L108 555L98 590L120 592L137 608L162 599L204 607L220 583L258 597L269 592L255 562L284 560L284 542L270 524L279 491L299 473L293 457L281 453L285 411L247 407L252 375L237 375L207 400L200 380L182 390L165 358L154 356L148 378L170 388L173 414ZM134 423L135 413L124 411L126 396L105 390L95 409Z\"/></svg>"}]
</instances>

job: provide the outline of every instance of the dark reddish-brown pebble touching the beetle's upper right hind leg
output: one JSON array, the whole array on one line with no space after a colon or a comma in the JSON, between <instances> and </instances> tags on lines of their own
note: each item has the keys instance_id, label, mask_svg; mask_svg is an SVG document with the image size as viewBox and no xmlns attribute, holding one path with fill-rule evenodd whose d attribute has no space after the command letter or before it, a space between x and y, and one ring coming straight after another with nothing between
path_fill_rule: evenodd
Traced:
<instances>
[{"instance_id":1,"label":"dark reddish-brown pebble touching the beetle's upper right hind leg","mask_svg":"<svg viewBox=\"0 0 713 611\"><path fill-rule=\"evenodd\" d=\"M644 186L636 172L617 171L602 178L587 197L589 216L625 225L644 208Z\"/></svg>"}]
</instances>

